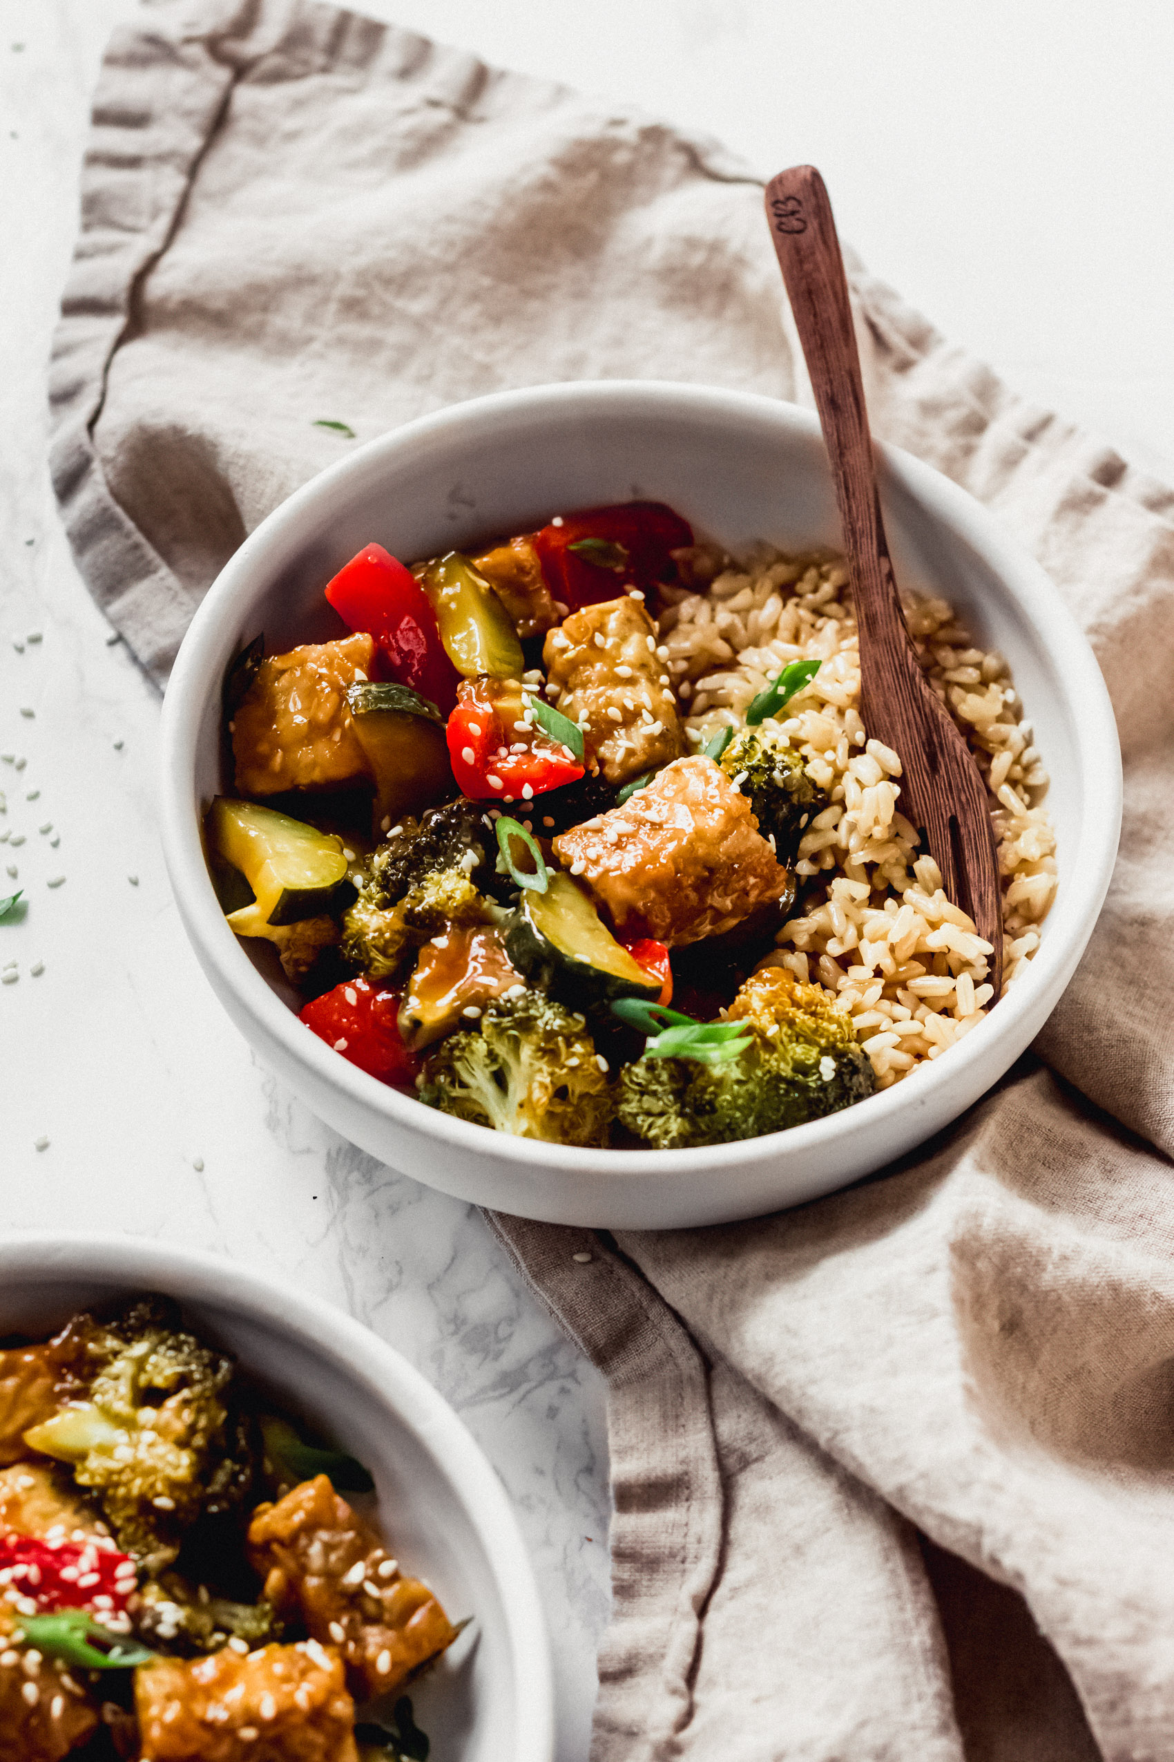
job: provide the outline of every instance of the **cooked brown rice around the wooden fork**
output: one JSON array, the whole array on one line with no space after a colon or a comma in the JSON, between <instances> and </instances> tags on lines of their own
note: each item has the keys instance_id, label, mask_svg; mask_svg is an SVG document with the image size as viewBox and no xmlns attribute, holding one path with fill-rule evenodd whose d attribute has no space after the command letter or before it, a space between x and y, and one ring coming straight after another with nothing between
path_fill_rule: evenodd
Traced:
<instances>
[{"instance_id":1,"label":"cooked brown rice around the wooden fork","mask_svg":"<svg viewBox=\"0 0 1174 1762\"><path fill-rule=\"evenodd\" d=\"M785 719L764 724L789 738L829 796L799 846L803 916L783 927L767 964L838 996L885 1089L982 1020L991 944L945 897L933 858L919 855L898 809L901 761L861 722L848 571L840 559L774 550L732 564L709 546L681 564L699 590L664 592L660 638L693 749L723 724L743 726L750 700L789 661L822 663ZM1047 772L1003 657L975 648L945 599L910 597L906 620L987 782L1007 990L1038 948L1056 890L1056 839L1040 807Z\"/></svg>"}]
</instances>

